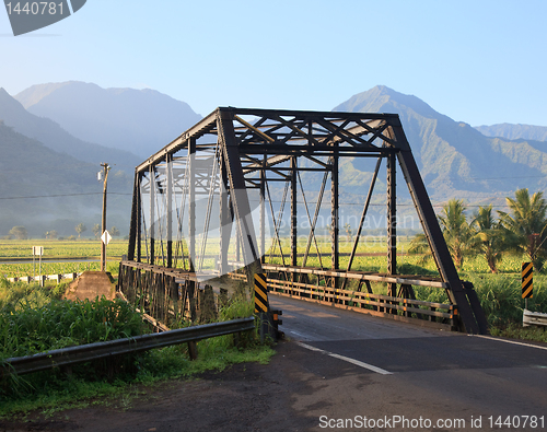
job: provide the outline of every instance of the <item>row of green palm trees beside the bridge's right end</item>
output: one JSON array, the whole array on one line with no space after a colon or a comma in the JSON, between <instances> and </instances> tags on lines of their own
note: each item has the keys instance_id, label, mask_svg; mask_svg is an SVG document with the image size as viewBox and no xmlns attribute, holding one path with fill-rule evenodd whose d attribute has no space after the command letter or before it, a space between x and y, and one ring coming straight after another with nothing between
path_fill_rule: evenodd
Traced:
<instances>
[{"instance_id":1,"label":"row of green palm trees beside the bridge's right end","mask_svg":"<svg viewBox=\"0 0 547 432\"><path fill-rule=\"evenodd\" d=\"M505 198L509 211L497 211L492 205L479 207L470 219L462 199L451 199L438 215L444 240L457 269L472 256L482 256L492 273L505 254L524 254L540 270L547 259L547 202L542 191L532 196L527 188ZM424 254L421 262L432 258L424 234L415 236L410 253Z\"/></svg>"}]
</instances>

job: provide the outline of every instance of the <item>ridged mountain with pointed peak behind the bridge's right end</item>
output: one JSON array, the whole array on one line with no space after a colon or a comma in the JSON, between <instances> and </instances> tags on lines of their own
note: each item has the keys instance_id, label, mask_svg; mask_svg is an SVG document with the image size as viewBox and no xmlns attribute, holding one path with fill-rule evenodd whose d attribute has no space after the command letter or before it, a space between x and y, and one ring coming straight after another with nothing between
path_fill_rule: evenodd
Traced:
<instances>
[{"instance_id":1,"label":"ridged mountain with pointed peak behind the bridge's right end","mask_svg":"<svg viewBox=\"0 0 547 432\"><path fill-rule=\"evenodd\" d=\"M521 187L535 191L547 186L547 153L536 142L488 138L416 96L375 86L334 110L397 113L426 186L437 200L456 197L480 201L504 197ZM356 174L364 173L368 168L363 164L356 159L351 168Z\"/></svg>"}]
</instances>

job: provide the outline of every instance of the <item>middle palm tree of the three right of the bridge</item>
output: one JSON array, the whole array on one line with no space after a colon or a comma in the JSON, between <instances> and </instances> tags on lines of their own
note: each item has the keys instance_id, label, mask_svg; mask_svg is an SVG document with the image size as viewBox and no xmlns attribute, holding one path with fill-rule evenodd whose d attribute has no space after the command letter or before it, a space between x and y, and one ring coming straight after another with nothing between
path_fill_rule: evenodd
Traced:
<instances>
[{"instance_id":1,"label":"middle palm tree of the three right of the bridge","mask_svg":"<svg viewBox=\"0 0 547 432\"><path fill-rule=\"evenodd\" d=\"M473 246L484 255L490 271L497 273L505 245L500 222L492 217L492 205L479 207L470 226L476 233Z\"/></svg>"}]
</instances>

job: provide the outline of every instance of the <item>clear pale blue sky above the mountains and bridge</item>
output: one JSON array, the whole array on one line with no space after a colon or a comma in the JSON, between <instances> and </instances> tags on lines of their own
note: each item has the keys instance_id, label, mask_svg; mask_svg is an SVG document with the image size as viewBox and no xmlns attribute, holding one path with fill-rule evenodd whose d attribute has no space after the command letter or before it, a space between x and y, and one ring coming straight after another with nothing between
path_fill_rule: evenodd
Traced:
<instances>
[{"instance_id":1,"label":"clear pale blue sky above the mountains and bridge","mask_svg":"<svg viewBox=\"0 0 547 432\"><path fill-rule=\"evenodd\" d=\"M88 0L13 36L0 86L150 87L217 106L330 110L375 85L472 126L547 126L545 0Z\"/></svg>"}]
</instances>

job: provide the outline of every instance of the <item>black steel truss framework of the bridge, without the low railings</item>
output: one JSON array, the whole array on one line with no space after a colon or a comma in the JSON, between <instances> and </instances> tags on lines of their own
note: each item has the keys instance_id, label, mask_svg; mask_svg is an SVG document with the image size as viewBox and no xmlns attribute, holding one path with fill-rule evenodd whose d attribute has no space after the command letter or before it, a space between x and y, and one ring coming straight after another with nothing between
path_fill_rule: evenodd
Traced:
<instances>
[{"instance_id":1,"label":"black steel truss framework of the bridge, without the low railings","mask_svg":"<svg viewBox=\"0 0 547 432\"><path fill-rule=\"evenodd\" d=\"M294 267L298 262L296 195L299 189L305 200L300 173L319 172L324 173L324 176L313 215L309 211L307 202L305 203L311 229L303 266L306 265L314 242L319 262L322 262L314 232L327 179L330 177L330 270L336 273L339 269L340 230L338 172L339 161L344 157L376 157L377 160L358 235L345 270L351 270L371 195L382 160L385 159L387 164L387 271L388 275L397 273L395 174L398 161L441 279L447 287L446 293L450 302L457 306L461 323L466 331L487 332L486 318L476 293L470 285L459 280L410 145L400 120L395 114L217 108L136 167L128 259L140 262L146 256L148 264L156 264L155 254L156 250L161 250L160 264L163 266L168 268L176 266L176 258L182 257L182 267L196 271L196 266L200 266L196 260L196 247L198 247L196 199L199 196L209 197L203 218L205 223L208 223L212 213L211 199L214 192L218 196L220 213L220 246L216 258L218 273L224 275L231 268L228 259L231 230L226 229L230 222L236 225L236 261L240 261L240 254L242 254L247 268L260 269L266 260L267 252L264 240L266 201L269 201L276 247L281 254L283 265L287 258L287 264ZM277 215L271 207L271 198L269 198L268 185L271 182L283 182L287 185ZM251 214L247 194L251 189L257 189L260 197L258 240L255 235L253 219L246 217ZM163 205L159 205L159 200ZM290 201L288 207L291 213L289 253L282 249L278 230L287 200ZM148 211L144 211L143 201L149 203ZM155 211L162 215L155 214ZM176 215L176 221L173 220L174 215ZM146 226L147 222L148 226ZM175 222L177 230L175 230ZM154 244L156 237L154 230L164 233L160 235L162 244L159 249ZM148 237L147 231L150 233ZM181 238L174 242L172 233L175 231L179 233ZM175 243L175 250L173 250L173 243ZM294 277L294 273L291 275ZM330 283L336 288L344 287L346 281L333 277ZM396 283L388 284L388 295L396 296Z\"/></svg>"}]
</instances>

